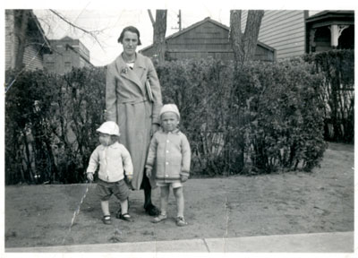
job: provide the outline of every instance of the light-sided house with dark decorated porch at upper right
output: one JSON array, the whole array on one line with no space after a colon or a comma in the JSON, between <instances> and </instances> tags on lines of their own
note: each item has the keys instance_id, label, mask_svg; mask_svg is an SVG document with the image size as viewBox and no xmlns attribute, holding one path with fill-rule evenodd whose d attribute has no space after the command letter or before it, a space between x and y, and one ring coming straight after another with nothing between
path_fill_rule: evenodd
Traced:
<instances>
[{"instance_id":1,"label":"light-sided house with dark decorated porch at upper right","mask_svg":"<svg viewBox=\"0 0 358 258\"><path fill-rule=\"evenodd\" d=\"M247 13L243 11L242 30ZM341 45L338 46L333 41L339 37ZM259 40L276 49L277 59L332 48L354 48L354 12L265 10Z\"/></svg>"}]
</instances>

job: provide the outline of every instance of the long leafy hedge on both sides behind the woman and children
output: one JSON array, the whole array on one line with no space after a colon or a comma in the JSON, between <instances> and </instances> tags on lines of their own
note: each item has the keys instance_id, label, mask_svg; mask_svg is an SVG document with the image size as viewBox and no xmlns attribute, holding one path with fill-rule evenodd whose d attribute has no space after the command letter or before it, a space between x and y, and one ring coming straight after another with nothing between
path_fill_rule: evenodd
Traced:
<instances>
[{"instance_id":1,"label":"long leafy hedge on both sides behind the woman and children","mask_svg":"<svg viewBox=\"0 0 358 258\"><path fill-rule=\"evenodd\" d=\"M164 103L181 112L192 175L257 175L320 165L326 148L324 73L294 59L156 64ZM6 184L80 183L104 121L105 68L20 75L5 97Z\"/></svg>"}]
</instances>

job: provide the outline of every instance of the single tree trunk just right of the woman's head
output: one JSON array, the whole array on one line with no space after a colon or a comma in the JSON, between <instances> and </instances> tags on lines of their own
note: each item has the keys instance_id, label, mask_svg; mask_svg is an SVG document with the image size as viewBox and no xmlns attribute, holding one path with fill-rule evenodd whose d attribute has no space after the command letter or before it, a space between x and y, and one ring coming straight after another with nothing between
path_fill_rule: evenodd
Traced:
<instances>
[{"instance_id":1,"label":"single tree trunk just right of the woman's head","mask_svg":"<svg viewBox=\"0 0 358 258\"><path fill-rule=\"evenodd\" d=\"M159 64L165 61L166 56L166 13L167 10L157 10L153 23L153 47Z\"/></svg>"}]
</instances>

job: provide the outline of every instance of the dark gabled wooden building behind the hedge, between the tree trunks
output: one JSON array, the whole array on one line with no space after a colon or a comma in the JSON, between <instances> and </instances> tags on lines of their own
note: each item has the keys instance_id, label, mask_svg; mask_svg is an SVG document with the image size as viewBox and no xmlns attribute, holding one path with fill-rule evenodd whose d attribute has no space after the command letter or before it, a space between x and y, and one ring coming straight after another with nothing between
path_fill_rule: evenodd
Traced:
<instances>
[{"instance_id":1,"label":"dark gabled wooden building behind the hedge, between the tree trunks","mask_svg":"<svg viewBox=\"0 0 358 258\"><path fill-rule=\"evenodd\" d=\"M154 47L139 51L144 56L154 56ZM274 61L275 48L258 42L255 60ZM210 18L166 37L166 59L208 58L233 60L234 52L229 41L229 28Z\"/></svg>"}]
</instances>

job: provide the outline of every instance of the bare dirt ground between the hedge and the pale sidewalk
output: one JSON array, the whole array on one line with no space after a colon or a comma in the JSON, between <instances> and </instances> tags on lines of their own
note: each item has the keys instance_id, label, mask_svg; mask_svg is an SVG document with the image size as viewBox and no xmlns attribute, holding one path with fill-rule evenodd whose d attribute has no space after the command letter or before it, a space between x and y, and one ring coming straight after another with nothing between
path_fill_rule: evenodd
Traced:
<instances>
[{"instance_id":1,"label":"bare dirt ground between the hedge and the pale sidewalk","mask_svg":"<svg viewBox=\"0 0 358 258\"><path fill-rule=\"evenodd\" d=\"M145 214L142 192L131 193L132 223L115 219L119 203L112 198L113 225L107 226L96 185L6 186L5 247L354 231L353 168L354 146L331 143L312 173L190 179L184 228L175 226L173 193L169 219L158 224ZM153 201L159 203L158 189Z\"/></svg>"}]
</instances>

